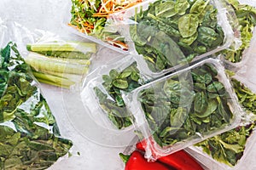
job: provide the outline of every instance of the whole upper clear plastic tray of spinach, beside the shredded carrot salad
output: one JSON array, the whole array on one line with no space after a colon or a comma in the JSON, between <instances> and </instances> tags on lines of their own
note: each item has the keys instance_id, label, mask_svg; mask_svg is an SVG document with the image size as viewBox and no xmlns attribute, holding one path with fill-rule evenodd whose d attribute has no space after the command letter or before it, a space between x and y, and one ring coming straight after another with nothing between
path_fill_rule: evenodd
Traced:
<instances>
[{"instance_id":1,"label":"whole upper clear plastic tray of spinach, beside the shredded carrot salad","mask_svg":"<svg viewBox=\"0 0 256 170\"><path fill-rule=\"evenodd\" d=\"M234 32L228 12L221 0L151 0L112 14L111 20L131 53L140 54L158 77L177 65L229 48Z\"/></svg>"}]
</instances>

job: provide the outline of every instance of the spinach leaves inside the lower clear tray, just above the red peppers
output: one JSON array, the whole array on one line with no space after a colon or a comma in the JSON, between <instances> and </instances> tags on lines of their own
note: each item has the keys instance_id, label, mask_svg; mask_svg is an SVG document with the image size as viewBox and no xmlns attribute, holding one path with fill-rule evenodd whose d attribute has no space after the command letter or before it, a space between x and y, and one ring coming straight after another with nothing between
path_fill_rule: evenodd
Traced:
<instances>
[{"instance_id":1,"label":"spinach leaves inside the lower clear tray, just above the red peppers","mask_svg":"<svg viewBox=\"0 0 256 170\"><path fill-rule=\"evenodd\" d=\"M228 126L234 118L228 98L211 64L196 67L191 74L185 72L156 82L138 96L151 133L160 146Z\"/></svg>"}]
</instances>

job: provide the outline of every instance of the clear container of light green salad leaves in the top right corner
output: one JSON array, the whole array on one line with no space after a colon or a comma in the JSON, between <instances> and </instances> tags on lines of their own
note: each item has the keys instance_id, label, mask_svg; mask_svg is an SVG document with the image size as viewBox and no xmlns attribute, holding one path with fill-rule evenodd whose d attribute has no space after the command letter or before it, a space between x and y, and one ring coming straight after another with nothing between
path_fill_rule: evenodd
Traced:
<instances>
[{"instance_id":1,"label":"clear container of light green salad leaves in the top right corner","mask_svg":"<svg viewBox=\"0 0 256 170\"><path fill-rule=\"evenodd\" d=\"M238 2L239 3L234 1L232 3L235 4L235 7L233 7L231 3L227 5L227 7L230 8L229 11L233 11L232 13L230 12L230 17L233 18L233 22L230 24L234 30L235 42L233 42L230 48L227 48L227 51L224 51L224 54L222 54L222 60L224 60L225 67L232 71L243 69L243 66L245 63L247 63L247 60L251 58L251 55L253 54L253 48L255 46L256 28L253 27L253 18L255 18L253 16L255 15L255 9L253 8L256 7L256 2L247 0L238 0ZM236 8L239 16L236 16L234 8ZM241 10L244 10L243 13L247 15L241 15ZM253 35L252 39L250 40L248 38L251 37L251 33ZM238 39L238 34L240 34L240 42ZM244 41L244 44L242 44L242 41ZM243 51L241 51L239 48L240 46L242 46L242 49L244 49ZM236 52L236 50L238 51Z\"/></svg>"}]
</instances>

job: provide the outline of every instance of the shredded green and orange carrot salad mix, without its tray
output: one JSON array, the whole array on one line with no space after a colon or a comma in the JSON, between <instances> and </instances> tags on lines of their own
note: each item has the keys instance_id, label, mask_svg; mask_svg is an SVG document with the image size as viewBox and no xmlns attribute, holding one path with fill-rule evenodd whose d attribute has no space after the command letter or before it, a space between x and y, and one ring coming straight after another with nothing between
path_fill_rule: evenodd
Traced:
<instances>
[{"instance_id":1,"label":"shredded green and orange carrot salad mix, without its tray","mask_svg":"<svg viewBox=\"0 0 256 170\"><path fill-rule=\"evenodd\" d=\"M141 2L141 0L131 0L129 2L72 0L70 26L75 27L85 35L99 38L115 47L127 50L125 37L122 37L119 31L113 27L108 28L108 14L119 12Z\"/></svg>"}]
</instances>

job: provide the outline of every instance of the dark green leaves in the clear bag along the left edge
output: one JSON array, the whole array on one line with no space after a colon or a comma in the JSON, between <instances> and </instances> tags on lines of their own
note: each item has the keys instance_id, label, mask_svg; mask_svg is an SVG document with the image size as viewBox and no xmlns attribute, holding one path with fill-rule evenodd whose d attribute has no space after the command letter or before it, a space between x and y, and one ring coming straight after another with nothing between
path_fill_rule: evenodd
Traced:
<instances>
[{"instance_id":1,"label":"dark green leaves in the clear bag along the left edge","mask_svg":"<svg viewBox=\"0 0 256 170\"><path fill-rule=\"evenodd\" d=\"M72 147L15 43L0 52L0 169L46 169Z\"/></svg>"}]
</instances>

